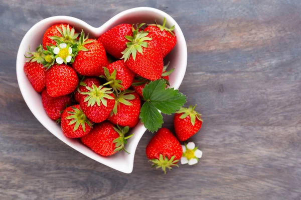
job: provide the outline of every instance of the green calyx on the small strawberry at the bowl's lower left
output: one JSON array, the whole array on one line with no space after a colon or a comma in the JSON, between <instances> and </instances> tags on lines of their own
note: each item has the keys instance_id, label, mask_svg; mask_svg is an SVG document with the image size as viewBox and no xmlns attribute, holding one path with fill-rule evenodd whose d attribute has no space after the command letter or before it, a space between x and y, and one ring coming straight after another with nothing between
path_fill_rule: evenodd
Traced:
<instances>
[{"instance_id":1,"label":"green calyx on the small strawberry at the bowl's lower left","mask_svg":"<svg viewBox=\"0 0 301 200\"><path fill-rule=\"evenodd\" d=\"M77 130L79 125L81 125L82 128L83 128L83 131L86 132L85 123L87 123L90 127L92 127L92 124L90 123L88 117L84 114L84 112L82 111L81 108L78 109L76 107L72 107L72 109L74 111L67 111L69 114L72 114L72 115L69 115L69 116L66 117L66 119L72 119L69 122L69 125L75 123L73 131Z\"/></svg>"}]
</instances>

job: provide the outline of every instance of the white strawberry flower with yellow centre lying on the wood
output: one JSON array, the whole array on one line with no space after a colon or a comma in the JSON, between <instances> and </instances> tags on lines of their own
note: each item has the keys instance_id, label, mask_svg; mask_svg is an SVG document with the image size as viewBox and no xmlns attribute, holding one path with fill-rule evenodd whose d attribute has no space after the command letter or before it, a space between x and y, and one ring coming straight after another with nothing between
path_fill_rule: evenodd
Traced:
<instances>
[{"instance_id":1,"label":"white strawberry flower with yellow centre lying on the wood","mask_svg":"<svg viewBox=\"0 0 301 200\"><path fill-rule=\"evenodd\" d=\"M198 146L196 146L194 142L188 142L187 144L182 145L182 149L183 155L181 157L181 164L196 164L203 155L203 152L198 149Z\"/></svg>"}]
</instances>

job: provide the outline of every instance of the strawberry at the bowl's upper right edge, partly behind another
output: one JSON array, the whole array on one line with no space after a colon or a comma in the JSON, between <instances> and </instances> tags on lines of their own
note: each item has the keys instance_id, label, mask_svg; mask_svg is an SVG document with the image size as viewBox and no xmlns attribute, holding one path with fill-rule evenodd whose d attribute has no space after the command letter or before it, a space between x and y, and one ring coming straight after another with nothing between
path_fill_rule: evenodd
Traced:
<instances>
[{"instance_id":1,"label":"strawberry at the bowl's upper right edge, partly behind another","mask_svg":"<svg viewBox=\"0 0 301 200\"><path fill-rule=\"evenodd\" d=\"M156 39L161 44L162 54L165 57L175 47L177 38L173 30L175 26L171 28L165 27L166 18L164 17L163 24L160 25L155 20L156 24L148 24L144 31L148 31L148 36Z\"/></svg>"}]
</instances>

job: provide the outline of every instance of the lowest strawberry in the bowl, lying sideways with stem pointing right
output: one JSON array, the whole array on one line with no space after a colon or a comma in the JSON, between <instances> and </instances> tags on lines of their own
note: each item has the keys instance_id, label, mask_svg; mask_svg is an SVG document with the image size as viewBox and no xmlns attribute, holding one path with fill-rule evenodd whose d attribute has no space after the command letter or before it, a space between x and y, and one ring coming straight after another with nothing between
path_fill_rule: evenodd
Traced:
<instances>
[{"instance_id":1,"label":"lowest strawberry in the bowl, lying sideways with stem pointing right","mask_svg":"<svg viewBox=\"0 0 301 200\"><path fill-rule=\"evenodd\" d=\"M109 121L104 121L94 125L90 133L80 139L96 153L109 156L120 150L126 151L124 148L124 145L127 143L126 139L133 135L131 134L124 137L124 134L126 134L128 130L128 126L122 129L119 126L116 128Z\"/></svg>"}]
</instances>

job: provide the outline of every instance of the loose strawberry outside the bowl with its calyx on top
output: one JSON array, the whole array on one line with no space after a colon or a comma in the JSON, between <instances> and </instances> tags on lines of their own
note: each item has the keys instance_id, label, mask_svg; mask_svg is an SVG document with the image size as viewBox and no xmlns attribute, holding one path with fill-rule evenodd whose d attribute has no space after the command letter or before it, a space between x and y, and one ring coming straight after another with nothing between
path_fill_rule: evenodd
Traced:
<instances>
[{"instance_id":1,"label":"loose strawberry outside the bowl with its calyx on top","mask_svg":"<svg viewBox=\"0 0 301 200\"><path fill-rule=\"evenodd\" d=\"M189 108L181 107L174 117L175 132L180 141L185 141L194 135L202 126L201 114L195 111L196 105Z\"/></svg>"}]
</instances>

